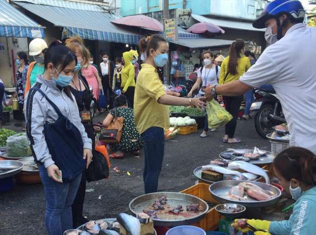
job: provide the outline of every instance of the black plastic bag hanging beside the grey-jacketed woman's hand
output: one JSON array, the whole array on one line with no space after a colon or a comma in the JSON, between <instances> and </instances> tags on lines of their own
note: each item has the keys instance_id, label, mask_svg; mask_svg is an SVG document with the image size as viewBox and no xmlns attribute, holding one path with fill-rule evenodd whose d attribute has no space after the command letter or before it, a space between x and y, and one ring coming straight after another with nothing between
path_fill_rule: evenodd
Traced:
<instances>
[{"instance_id":1,"label":"black plastic bag hanging beside the grey-jacketed woman's hand","mask_svg":"<svg viewBox=\"0 0 316 235\"><path fill-rule=\"evenodd\" d=\"M86 178L88 182L107 178L110 170L109 165L101 152L95 150L92 161L86 169Z\"/></svg>"}]
</instances>

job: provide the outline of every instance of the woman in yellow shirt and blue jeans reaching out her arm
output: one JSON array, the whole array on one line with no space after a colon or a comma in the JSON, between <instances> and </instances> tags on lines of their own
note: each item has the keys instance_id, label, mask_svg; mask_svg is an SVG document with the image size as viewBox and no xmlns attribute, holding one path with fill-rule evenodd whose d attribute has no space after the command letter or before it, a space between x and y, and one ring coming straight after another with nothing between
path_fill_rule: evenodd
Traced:
<instances>
[{"instance_id":1,"label":"woman in yellow shirt and blue jeans reaching out her arm","mask_svg":"<svg viewBox=\"0 0 316 235\"><path fill-rule=\"evenodd\" d=\"M156 192L165 152L164 128L169 128L168 105L194 105L205 107L204 96L180 98L179 93L166 93L159 79L157 67L168 61L169 45L161 35L141 39L146 45L146 60L137 77L134 100L135 124L144 141L145 165L143 181L145 193Z\"/></svg>"}]
</instances>

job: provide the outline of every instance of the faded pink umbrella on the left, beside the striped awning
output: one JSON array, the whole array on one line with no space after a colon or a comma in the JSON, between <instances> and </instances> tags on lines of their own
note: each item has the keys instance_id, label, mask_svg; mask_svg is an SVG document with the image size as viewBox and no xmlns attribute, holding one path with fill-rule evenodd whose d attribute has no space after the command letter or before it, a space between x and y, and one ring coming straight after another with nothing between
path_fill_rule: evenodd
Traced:
<instances>
[{"instance_id":1,"label":"faded pink umbrella on the left, beside the striped awning","mask_svg":"<svg viewBox=\"0 0 316 235\"><path fill-rule=\"evenodd\" d=\"M164 26L159 21L144 15L128 16L112 21L114 24L141 27L148 30L164 31Z\"/></svg>"}]
</instances>

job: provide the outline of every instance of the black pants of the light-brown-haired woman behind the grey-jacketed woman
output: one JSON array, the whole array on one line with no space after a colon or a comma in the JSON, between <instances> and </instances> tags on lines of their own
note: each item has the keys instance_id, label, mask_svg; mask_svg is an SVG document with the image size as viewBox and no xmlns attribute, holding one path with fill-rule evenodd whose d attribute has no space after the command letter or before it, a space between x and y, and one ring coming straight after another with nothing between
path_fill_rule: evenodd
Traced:
<instances>
[{"instance_id":1,"label":"black pants of the light-brown-haired woman behind the grey-jacketed woman","mask_svg":"<svg viewBox=\"0 0 316 235\"><path fill-rule=\"evenodd\" d=\"M95 154L95 138L94 138L93 125L92 123L85 123L84 127L87 132L88 138L92 140L92 154L94 155ZM77 195L71 206L72 222L73 222L74 228L77 228L80 224L83 224L85 222L83 221L83 214L82 214L85 195L86 195L86 173L84 169L82 171L81 181L79 184Z\"/></svg>"}]
</instances>

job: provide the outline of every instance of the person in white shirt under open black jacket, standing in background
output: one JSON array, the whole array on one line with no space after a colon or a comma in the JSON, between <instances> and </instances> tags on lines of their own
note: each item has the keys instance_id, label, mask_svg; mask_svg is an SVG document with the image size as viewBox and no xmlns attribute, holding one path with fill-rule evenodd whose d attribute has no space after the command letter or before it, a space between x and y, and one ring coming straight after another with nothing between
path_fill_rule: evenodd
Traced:
<instances>
[{"instance_id":1,"label":"person in white shirt under open black jacket, standing in background","mask_svg":"<svg viewBox=\"0 0 316 235\"><path fill-rule=\"evenodd\" d=\"M111 109L113 105L111 96L113 95L112 82L115 65L113 61L109 60L107 53L102 54L102 60L103 62L100 63L100 70L102 74L101 83L104 95L107 96L108 107Z\"/></svg>"}]
</instances>

